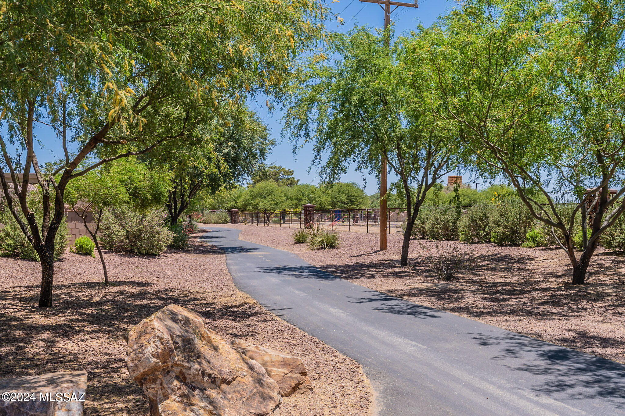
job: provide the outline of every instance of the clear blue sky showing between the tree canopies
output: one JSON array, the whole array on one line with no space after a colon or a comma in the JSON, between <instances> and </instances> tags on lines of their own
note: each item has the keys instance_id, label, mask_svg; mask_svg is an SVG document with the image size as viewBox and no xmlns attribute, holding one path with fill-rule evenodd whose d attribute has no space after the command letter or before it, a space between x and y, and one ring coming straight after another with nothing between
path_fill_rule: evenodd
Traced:
<instances>
[{"instance_id":1,"label":"clear blue sky showing between the tree canopies","mask_svg":"<svg viewBox=\"0 0 625 416\"><path fill-rule=\"evenodd\" d=\"M423 0L419 3L419 7L398 7L392 14L391 19L395 24L396 36L414 29L417 25L423 24L429 26L436 21L438 16L454 7L456 2L444 0ZM361 2L359 0L341 0L330 4L332 12L339 14L344 19L344 25L337 24L336 21L329 22L327 29L329 31L346 32L354 25L365 25L369 27L382 27L384 24L384 12L374 3ZM292 169L296 178L300 183L318 183L319 178L317 172L313 169L308 173L311 165L311 147L302 148L296 155L293 155L292 146L285 140L281 139L282 128L282 112L274 111L271 114L267 112L264 106L264 99L258 103L250 102L252 110L256 111L259 117L269 127L271 136L276 140L276 147L272 150L267 162L276 163L283 167ZM49 160L58 160L62 157L61 144L56 138L54 132L47 127L36 128L36 135L39 143L45 149L39 153L39 162L47 162ZM74 149L70 149L74 150ZM451 175L462 174L462 172L452 172ZM467 175L464 175L464 181L469 181ZM389 181L394 180L389 176ZM354 181L360 186L366 184L366 192L371 194L378 190L377 181L372 176L362 177L361 173L350 170L342 181ZM482 186L478 186L481 188Z\"/></svg>"}]
</instances>

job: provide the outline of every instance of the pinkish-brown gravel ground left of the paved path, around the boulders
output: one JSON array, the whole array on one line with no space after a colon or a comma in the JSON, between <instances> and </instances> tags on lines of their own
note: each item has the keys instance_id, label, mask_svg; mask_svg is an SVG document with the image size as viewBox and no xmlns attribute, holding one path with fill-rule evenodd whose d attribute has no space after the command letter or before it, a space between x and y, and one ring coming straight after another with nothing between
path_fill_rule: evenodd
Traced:
<instances>
[{"instance_id":1,"label":"pinkish-brown gravel ground left of the paved path, around the boulders","mask_svg":"<svg viewBox=\"0 0 625 416\"><path fill-rule=\"evenodd\" d=\"M105 256L110 287L101 284L98 259L67 253L56 263L48 310L36 307L39 264L0 258L0 378L86 370L86 415L147 415L148 401L124 363L123 336L174 303L199 312L226 339L302 358L314 394L286 397L282 415L370 414L372 392L360 365L239 292L224 254L201 235L187 251Z\"/></svg>"}]
</instances>

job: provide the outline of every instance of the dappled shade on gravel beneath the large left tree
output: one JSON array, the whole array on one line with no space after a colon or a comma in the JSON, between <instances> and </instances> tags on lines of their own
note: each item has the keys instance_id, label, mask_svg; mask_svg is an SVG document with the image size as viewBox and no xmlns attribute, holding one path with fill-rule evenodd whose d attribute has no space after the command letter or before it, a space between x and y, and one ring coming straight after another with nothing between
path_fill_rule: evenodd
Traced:
<instances>
[{"instance_id":1,"label":"dappled shade on gravel beneath the large left tree","mask_svg":"<svg viewBox=\"0 0 625 416\"><path fill-rule=\"evenodd\" d=\"M236 332L228 332L233 337L256 333L257 319L266 319L259 316L257 306L245 301L224 307L200 291L144 281L114 281L114 286L55 284L51 309L37 308L38 289L24 285L0 290L0 378L86 370L89 415L149 413L143 390L129 379L119 357L124 354L124 334L162 307L171 303L190 307L214 326L222 327L224 320L245 322L235 326Z\"/></svg>"}]
</instances>

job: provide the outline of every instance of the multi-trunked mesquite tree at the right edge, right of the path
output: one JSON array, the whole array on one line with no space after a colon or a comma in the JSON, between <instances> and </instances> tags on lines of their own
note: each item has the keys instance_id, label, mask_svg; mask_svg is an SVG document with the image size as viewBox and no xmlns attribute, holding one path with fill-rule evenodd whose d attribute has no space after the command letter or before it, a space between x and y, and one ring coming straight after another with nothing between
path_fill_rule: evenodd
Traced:
<instances>
[{"instance_id":1,"label":"multi-trunked mesquite tree at the right edge, right of the path","mask_svg":"<svg viewBox=\"0 0 625 416\"><path fill-rule=\"evenodd\" d=\"M445 117L482 172L504 173L551 227L573 284L586 281L599 237L625 210L623 19L610 0L469 1L429 31ZM567 197L578 200L568 210L557 204Z\"/></svg>"}]
</instances>

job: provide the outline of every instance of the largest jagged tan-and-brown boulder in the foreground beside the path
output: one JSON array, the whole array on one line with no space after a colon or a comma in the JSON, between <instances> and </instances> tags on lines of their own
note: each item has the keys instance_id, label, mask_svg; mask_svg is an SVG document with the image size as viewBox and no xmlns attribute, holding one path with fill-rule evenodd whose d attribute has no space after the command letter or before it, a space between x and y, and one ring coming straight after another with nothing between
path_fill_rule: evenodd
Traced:
<instances>
[{"instance_id":1,"label":"largest jagged tan-and-brown boulder in the foreground beside the path","mask_svg":"<svg viewBox=\"0 0 625 416\"><path fill-rule=\"evenodd\" d=\"M261 365L181 306L166 306L130 330L126 365L152 416L279 414L279 387Z\"/></svg>"}]
</instances>

